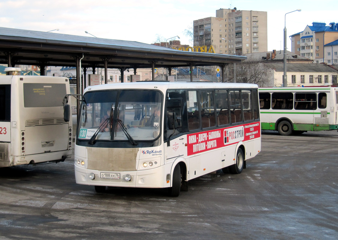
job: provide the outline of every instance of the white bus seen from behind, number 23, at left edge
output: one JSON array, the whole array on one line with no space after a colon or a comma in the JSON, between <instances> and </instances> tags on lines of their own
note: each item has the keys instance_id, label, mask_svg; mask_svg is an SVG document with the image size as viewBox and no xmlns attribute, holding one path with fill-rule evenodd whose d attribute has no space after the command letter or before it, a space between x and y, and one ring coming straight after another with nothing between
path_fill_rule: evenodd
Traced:
<instances>
[{"instance_id":1,"label":"white bus seen from behind, number 23, at left edge","mask_svg":"<svg viewBox=\"0 0 338 240\"><path fill-rule=\"evenodd\" d=\"M0 167L60 162L72 154L65 77L0 76Z\"/></svg>"}]
</instances>

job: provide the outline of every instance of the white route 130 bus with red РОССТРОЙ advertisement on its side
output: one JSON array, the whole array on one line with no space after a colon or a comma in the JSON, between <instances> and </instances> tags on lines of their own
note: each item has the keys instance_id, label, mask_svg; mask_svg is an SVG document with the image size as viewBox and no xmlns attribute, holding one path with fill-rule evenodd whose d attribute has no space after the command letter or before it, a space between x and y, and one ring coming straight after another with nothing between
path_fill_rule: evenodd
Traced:
<instances>
[{"instance_id":1,"label":"white route 130 bus with red \u0420\u041e\u0421\u0421\u0422\u0420\u041e\u0419 advertisement on its side","mask_svg":"<svg viewBox=\"0 0 338 240\"><path fill-rule=\"evenodd\" d=\"M190 179L240 173L261 150L253 84L132 82L84 91L76 183L187 191Z\"/></svg>"}]
</instances>

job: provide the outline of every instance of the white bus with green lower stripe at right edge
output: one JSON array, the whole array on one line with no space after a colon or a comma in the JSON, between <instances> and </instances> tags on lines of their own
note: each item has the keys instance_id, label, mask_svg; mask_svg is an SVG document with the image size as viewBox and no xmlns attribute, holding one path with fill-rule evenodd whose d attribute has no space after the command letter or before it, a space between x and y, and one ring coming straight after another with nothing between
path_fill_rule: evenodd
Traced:
<instances>
[{"instance_id":1,"label":"white bus with green lower stripe at right edge","mask_svg":"<svg viewBox=\"0 0 338 240\"><path fill-rule=\"evenodd\" d=\"M337 87L260 88L263 130L280 135L338 129Z\"/></svg>"}]
</instances>

